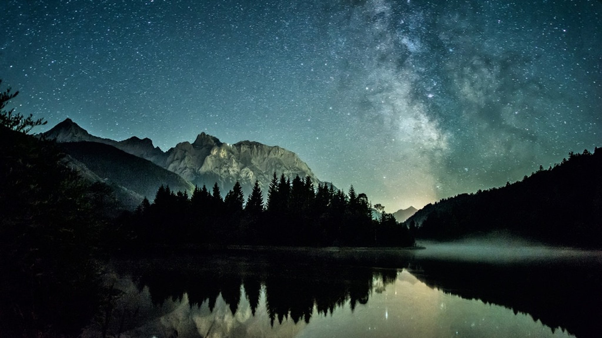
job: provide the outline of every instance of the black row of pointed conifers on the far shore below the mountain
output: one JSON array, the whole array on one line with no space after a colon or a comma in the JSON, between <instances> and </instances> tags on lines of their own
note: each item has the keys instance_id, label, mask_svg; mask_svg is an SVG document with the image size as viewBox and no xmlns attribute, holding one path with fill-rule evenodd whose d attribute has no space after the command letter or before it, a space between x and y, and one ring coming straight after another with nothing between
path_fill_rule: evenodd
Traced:
<instances>
[{"instance_id":1,"label":"black row of pointed conifers on the far shore below the mountain","mask_svg":"<svg viewBox=\"0 0 602 338\"><path fill-rule=\"evenodd\" d=\"M217 183L173 192L161 186L153 203L146 198L121 220L125 244L175 246L240 244L279 246L409 247L414 237L393 215L373 220L365 194L314 187L311 179L273 174L265 199L261 187L244 198L240 183L222 198Z\"/></svg>"}]
</instances>

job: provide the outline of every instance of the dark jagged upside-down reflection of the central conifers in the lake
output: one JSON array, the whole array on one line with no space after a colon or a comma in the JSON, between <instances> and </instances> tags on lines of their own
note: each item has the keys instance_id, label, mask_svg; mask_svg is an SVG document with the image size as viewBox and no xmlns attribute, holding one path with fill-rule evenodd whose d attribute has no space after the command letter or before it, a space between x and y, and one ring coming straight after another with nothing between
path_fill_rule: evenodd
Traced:
<instances>
[{"instance_id":1,"label":"dark jagged upside-down reflection of the central conifers in the lake","mask_svg":"<svg viewBox=\"0 0 602 338\"><path fill-rule=\"evenodd\" d=\"M384 287L397 276L395 269L375 272L365 266L332 266L322 261L325 256L312 256L303 250L283 251L287 251L284 257L297 263L281 261L282 256L268 257L268 254L259 257L259 264L255 263L258 257L252 259L247 255L228 257L228 262L218 256L203 257L202 262L196 263L184 257L178 259L176 265L166 265L161 259L149 260L144 265L121 262L117 271L131 275L139 292L147 287L152 303L158 307L166 301L182 301L186 295L191 307L206 303L213 311L221 296L235 315L244 293L255 315L264 292L271 325L282 324L288 318L294 323L309 323L314 305L321 315L332 314L335 308L347 302L353 310L357 304L367 303L375 278L382 280ZM324 254L324 251L318 252ZM351 263L358 252L349 250L349 254L339 254Z\"/></svg>"}]
</instances>

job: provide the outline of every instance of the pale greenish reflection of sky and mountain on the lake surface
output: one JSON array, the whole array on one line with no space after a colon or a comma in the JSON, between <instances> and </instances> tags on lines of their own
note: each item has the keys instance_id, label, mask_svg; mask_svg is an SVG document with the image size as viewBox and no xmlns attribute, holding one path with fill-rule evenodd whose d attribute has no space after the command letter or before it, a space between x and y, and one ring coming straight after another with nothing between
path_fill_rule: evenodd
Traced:
<instances>
[{"instance_id":1,"label":"pale greenish reflection of sky and mountain on the lake surface","mask_svg":"<svg viewBox=\"0 0 602 338\"><path fill-rule=\"evenodd\" d=\"M117 287L125 291L123 313L134 313L137 324L127 331L129 336L179 337L567 337L562 330L552 330L530 315L485 304L478 300L449 295L432 289L403 269L392 284L376 281L367 304L351 310L349 300L328 315L317 307L306 324L295 324L285 318L270 325L266 290L262 287L259 306L252 315L249 300L241 287L238 310L234 315L220 295L213 312L208 302L190 306L185 293L181 300L164 301L152 306L149 289L139 292L128 279L120 279ZM133 318L133 317L132 317ZM135 322L135 321L132 321ZM503 330L503 331L500 331ZM93 330L88 331L93 336Z\"/></svg>"}]
</instances>

